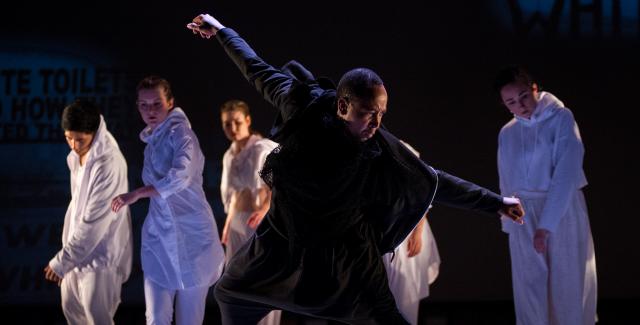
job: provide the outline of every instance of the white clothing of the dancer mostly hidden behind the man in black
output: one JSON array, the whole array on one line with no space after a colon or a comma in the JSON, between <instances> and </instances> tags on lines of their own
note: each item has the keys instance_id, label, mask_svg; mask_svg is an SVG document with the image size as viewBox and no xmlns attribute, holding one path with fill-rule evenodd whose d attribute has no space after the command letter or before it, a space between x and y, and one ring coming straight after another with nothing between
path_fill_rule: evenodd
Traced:
<instances>
[{"instance_id":1,"label":"white clothing of the dancer mostly hidden behind the man in black","mask_svg":"<svg viewBox=\"0 0 640 325\"><path fill-rule=\"evenodd\" d=\"M402 143L420 156L409 144ZM407 237L393 254L387 253L382 257L396 305L410 324L418 323L420 300L429 296L429 285L440 271L440 254L428 221L425 221L421 236L422 249L418 255L409 257Z\"/></svg>"}]
</instances>

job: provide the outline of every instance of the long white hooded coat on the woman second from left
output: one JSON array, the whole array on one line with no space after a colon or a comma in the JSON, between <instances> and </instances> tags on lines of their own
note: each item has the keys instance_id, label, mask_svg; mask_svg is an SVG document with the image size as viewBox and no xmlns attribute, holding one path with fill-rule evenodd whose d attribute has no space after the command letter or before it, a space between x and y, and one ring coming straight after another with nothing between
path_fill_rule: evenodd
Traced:
<instances>
[{"instance_id":1,"label":"long white hooded coat on the woman second from left","mask_svg":"<svg viewBox=\"0 0 640 325\"><path fill-rule=\"evenodd\" d=\"M191 124L176 107L154 130L142 130L142 179L151 197L142 228L145 277L167 289L210 286L224 265L213 212L202 189L204 155Z\"/></svg>"}]
</instances>

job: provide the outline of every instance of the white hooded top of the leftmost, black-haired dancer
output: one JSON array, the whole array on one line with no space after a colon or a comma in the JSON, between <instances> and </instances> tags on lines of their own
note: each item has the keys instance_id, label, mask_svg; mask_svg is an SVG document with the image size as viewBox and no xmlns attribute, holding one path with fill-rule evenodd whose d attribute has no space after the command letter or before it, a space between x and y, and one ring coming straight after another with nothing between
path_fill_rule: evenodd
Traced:
<instances>
[{"instance_id":1,"label":"white hooded top of the leftmost, black-haired dancer","mask_svg":"<svg viewBox=\"0 0 640 325\"><path fill-rule=\"evenodd\" d=\"M129 191L127 162L102 116L87 155L84 166L75 151L67 156L72 196L64 218L62 249L49 266L61 277L70 271L110 268L124 282L131 272L131 217L128 207L111 211L111 200Z\"/></svg>"}]
</instances>

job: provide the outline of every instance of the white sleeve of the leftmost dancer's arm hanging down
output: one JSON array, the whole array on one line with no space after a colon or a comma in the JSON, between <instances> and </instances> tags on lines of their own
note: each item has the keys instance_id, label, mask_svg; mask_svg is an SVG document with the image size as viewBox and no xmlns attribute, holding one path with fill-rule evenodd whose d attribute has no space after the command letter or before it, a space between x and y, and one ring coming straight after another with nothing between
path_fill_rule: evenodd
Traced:
<instances>
[{"instance_id":1,"label":"white sleeve of the leftmost dancer's arm hanging down","mask_svg":"<svg viewBox=\"0 0 640 325\"><path fill-rule=\"evenodd\" d=\"M83 209L82 218L76 224L73 236L69 242L49 261L49 267L61 277L64 277L74 267L85 261L96 246L102 241L115 218L128 213L116 214L111 211L111 200L119 194L118 188L122 181L126 181L126 174L110 165L97 166L95 176L89 184L87 203Z\"/></svg>"}]
</instances>

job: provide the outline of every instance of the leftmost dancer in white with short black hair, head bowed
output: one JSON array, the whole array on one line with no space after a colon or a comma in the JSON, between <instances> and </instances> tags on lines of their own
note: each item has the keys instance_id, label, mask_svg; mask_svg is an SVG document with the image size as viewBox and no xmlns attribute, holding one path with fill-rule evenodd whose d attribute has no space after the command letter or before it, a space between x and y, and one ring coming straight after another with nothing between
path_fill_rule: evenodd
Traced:
<instances>
[{"instance_id":1,"label":"leftmost dancer in white with short black hair, head bowed","mask_svg":"<svg viewBox=\"0 0 640 325\"><path fill-rule=\"evenodd\" d=\"M61 286L69 324L113 324L122 283L131 272L129 209L114 213L111 198L129 189L127 162L95 104L76 101L62 113L71 148L71 202L64 218L62 249L45 277Z\"/></svg>"}]
</instances>

